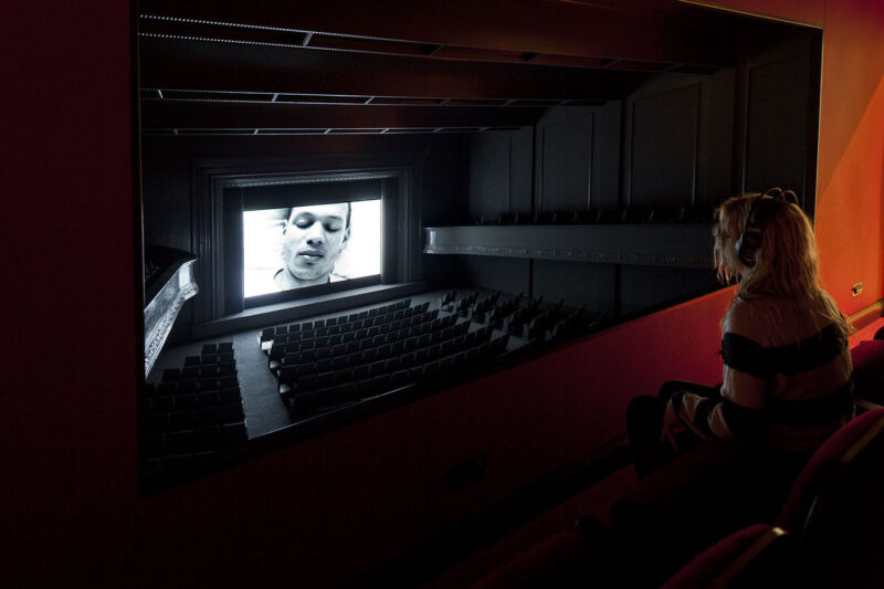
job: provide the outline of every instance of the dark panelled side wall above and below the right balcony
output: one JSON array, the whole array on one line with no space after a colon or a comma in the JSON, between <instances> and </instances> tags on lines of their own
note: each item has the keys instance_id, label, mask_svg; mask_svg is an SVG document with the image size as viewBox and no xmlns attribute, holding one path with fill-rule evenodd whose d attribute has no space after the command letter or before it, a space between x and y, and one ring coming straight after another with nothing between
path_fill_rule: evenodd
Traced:
<instances>
[{"instance_id":1,"label":"dark panelled side wall above and below the right balcony","mask_svg":"<svg viewBox=\"0 0 884 589\"><path fill-rule=\"evenodd\" d=\"M622 101L558 106L534 128L475 136L470 221L502 212L662 207L711 218L714 207L743 191L783 186L811 193L812 48L800 36L750 48L736 69L661 74ZM530 193L518 180L528 176ZM812 207L806 199L811 214ZM469 257L477 285L613 316L716 285L712 269Z\"/></svg>"}]
</instances>

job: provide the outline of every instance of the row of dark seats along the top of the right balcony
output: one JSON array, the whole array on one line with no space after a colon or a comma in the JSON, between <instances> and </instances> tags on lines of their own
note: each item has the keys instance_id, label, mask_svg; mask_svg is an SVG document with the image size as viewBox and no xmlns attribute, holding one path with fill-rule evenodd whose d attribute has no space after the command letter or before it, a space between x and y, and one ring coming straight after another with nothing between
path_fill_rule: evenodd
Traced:
<instances>
[{"instance_id":1,"label":"row of dark seats along the top of the right balcony","mask_svg":"<svg viewBox=\"0 0 884 589\"><path fill-rule=\"evenodd\" d=\"M711 223L713 208L631 207L599 211L499 213L480 217L480 225L590 225L607 223Z\"/></svg>"}]
</instances>

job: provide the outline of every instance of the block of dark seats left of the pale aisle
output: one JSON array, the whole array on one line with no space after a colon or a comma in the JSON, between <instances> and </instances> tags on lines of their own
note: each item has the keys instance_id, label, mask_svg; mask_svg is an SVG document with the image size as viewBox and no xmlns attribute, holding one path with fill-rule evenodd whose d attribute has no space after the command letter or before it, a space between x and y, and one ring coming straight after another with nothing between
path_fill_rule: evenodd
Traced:
<instances>
[{"instance_id":1,"label":"block of dark seats left of the pale aisle","mask_svg":"<svg viewBox=\"0 0 884 589\"><path fill-rule=\"evenodd\" d=\"M246 440L232 343L203 346L145 383L139 455L146 483L179 481L224 462Z\"/></svg>"}]
</instances>

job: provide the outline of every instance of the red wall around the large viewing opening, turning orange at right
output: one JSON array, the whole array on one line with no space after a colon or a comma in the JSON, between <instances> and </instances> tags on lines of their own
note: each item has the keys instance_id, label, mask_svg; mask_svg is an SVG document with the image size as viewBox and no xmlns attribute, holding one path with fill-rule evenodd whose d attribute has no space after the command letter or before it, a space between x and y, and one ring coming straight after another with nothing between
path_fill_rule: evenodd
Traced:
<instances>
[{"instance_id":1,"label":"red wall around the large viewing opening, turning orange at right","mask_svg":"<svg viewBox=\"0 0 884 589\"><path fill-rule=\"evenodd\" d=\"M818 225L827 285L851 313L882 298L884 8L751 4L827 28ZM7 586L343 578L621 432L632 395L715 380L728 292L138 499L128 7L4 2L0 18ZM496 456L492 484L443 495L444 469L475 448Z\"/></svg>"}]
</instances>

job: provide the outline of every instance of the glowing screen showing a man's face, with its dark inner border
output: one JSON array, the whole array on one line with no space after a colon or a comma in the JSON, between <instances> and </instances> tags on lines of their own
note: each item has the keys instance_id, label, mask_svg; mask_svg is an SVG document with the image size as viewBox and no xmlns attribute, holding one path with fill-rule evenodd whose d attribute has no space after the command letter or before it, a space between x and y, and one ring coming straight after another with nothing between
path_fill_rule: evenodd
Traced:
<instances>
[{"instance_id":1,"label":"glowing screen showing a man's face, with its dark inner border","mask_svg":"<svg viewBox=\"0 0 884 589\"><path fill-rule=\"evenodd\" d=\"M266 182L223 189L225 315L389 280L394 178Z\"/></svg>"}]
</instances>

